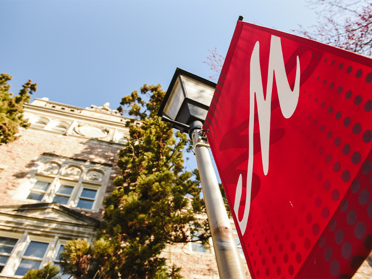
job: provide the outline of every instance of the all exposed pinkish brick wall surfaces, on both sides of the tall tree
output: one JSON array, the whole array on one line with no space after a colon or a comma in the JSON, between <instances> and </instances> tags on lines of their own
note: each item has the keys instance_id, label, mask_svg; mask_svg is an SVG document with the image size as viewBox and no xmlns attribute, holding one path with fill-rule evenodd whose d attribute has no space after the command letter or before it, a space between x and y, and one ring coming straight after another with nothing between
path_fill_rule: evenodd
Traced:
<instances>
[{"instance_id":1,"label":"all exposed pinkish brick wall surfaces, on both sides of the tall tree","mask_svg":"<svg viewBox=\"0 0 372 279\"><path fill-rule=\"evenodd\" d=\"M118 152L121 148L98 140L87 140L73 136L64 136L49 131L36 129L23 130L19 139L7 145L0 146L0 168L7 166L0 173L0 205L25 204L25 201L13 199L14 191L19 187L20 180L25 178L34 166L37 158L43 153L53 153L58 156L90 160L113 165L106 196L112 191L112 180L119 173L116 166ZM32 202L30 202L32 203ZM83 212L94 218L101 219L102 210L98 213ZM211 251L207 253L192 252L189 244L168 246L162 256L168 259L168 264L182 267L181 275L185 279L217 279L218 269L216 259ZM372 278L372 255L363 262L353 278ZM250 278L245 260L247 278Z\"/></svg>"}]
</instances>

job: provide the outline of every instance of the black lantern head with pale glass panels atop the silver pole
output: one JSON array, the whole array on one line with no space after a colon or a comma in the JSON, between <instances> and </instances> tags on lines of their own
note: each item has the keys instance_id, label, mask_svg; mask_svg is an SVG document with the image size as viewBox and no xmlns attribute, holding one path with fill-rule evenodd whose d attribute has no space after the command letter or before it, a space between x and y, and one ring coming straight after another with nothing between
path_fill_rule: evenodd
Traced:
<instances>
[{"instance_id":1,"label":"black lantern head with pale glass panels atop the silver pole","mask_svg":"<svg viewBox=\"0 0 372 279\"><path fill-rule=\"evenodd\" d=\"M216 83L177 68L157 115L189 133L195 123L204 123L215 88Z\"/></svg>"}]
</instances>

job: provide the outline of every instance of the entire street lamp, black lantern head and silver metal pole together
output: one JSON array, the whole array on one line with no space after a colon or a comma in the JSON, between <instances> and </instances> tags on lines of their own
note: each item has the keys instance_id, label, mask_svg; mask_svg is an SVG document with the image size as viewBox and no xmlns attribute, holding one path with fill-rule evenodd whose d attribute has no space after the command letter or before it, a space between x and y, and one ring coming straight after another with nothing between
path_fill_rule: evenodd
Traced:
<instances>
[{"instance_id":1,"label":"entire street lamp, black lantern head and silver metal pole together","mask_svg":"<svg viewBox=\"0 0 372 279\"><path fill-rule=\"evenodd\" d=\"M197 157L208 222L220 278L246 278L245 270L213 169L209 144L201 130L216 84L177 68L158 115L189 133Z\"/></svg>"}]
</instances>

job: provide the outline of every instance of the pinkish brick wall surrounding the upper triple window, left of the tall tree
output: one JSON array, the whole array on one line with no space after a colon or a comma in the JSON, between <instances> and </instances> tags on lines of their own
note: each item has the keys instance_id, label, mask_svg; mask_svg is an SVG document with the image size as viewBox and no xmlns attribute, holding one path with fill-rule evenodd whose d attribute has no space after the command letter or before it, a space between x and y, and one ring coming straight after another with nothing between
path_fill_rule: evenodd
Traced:
<instances>
[{"instance_id":1,"label":"pinkish brick wall surrounding the upper triple window, left of the tall tree","mask_svg":"<svg viewBox=\"0 0 372 279\"><path fill-rule=\"evenodd\" d=\"M112 181L118 175L116 165L118 152L121 148L108 142L88 140L73 136L29 128L20 133L20 137L9 144L0 146L0 166L5 168L0 173L0 205L25 204L25 201L13 199L15 190L19 187L21 179L25 178L37 159L44 153L53 153L58 156L84 159L98 163L112 164L114 172L105 196L112 191ZM30 201L30 203L33 203ZM83 212L94 218L100 219L101 212L92 214Z\"/></svg>"}]
</instances>

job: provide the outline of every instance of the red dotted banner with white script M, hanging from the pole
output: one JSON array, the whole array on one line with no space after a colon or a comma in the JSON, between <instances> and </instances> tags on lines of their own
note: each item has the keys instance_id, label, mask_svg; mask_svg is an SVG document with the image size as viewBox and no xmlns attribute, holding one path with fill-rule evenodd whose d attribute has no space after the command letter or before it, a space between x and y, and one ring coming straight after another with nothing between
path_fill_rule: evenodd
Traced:
<instances>
[{"instance_id":1,"label":"red dotted banner with white script M, hanging from the pole","mask_svg":"<svg viewBox=\"0 0 372 279\"><path fill-rule=\"evenodd\" d=\"M238 21L204 129L252 277L350 278L366 258L371 110L372 59Z\"/></svg>"}]
</instances>

